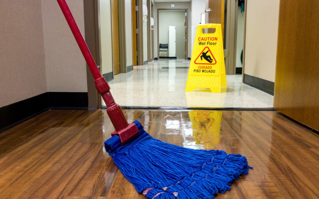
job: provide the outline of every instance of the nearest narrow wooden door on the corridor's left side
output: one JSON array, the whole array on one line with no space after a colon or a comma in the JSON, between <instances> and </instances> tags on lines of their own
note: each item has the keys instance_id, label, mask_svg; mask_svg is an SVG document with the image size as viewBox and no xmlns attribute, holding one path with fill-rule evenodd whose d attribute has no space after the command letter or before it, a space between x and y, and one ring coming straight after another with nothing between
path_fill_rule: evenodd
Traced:
<instances>
[{"instance_id":1,"label":"nearest narrow wooden door on the corridor's left side","mask_svg":"<svg viewBox=\"0 0 319 199\"><path fill-rule=\"evenodd\" d=\"M113 73L120 73L120 44L118 0L111 0L112 7L112 44L113 44Z\"/></svg>"}]
</instances>

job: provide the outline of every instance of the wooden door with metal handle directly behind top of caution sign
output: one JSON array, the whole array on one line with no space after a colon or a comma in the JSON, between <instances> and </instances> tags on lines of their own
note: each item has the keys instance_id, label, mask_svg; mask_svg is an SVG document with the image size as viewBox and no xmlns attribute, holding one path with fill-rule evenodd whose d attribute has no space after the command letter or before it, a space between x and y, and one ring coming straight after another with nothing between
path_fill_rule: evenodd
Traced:
<instances>
[{"instance_id":1,"label":"wooden door with metal handle directly behind top of caution sign","mask_svg":"<svg viewBox=\"0 0 319 199\"><path fill-rule=\"evenodd\" d=\"M222 35L224 35L225 0L209 0L208 8L211 9L208 14L208 23L221 24ZM208 33L211 33L211 30L208 30Z\"/></svg>"}]
</instances>

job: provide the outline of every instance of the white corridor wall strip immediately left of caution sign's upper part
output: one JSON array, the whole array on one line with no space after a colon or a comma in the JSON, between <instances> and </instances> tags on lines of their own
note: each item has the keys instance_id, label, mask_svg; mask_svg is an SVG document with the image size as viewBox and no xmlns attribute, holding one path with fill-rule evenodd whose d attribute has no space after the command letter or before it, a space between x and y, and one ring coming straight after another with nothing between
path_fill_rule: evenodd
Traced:
<instances>
[{"instance_id":1,"label":"white corridor wall strip immediately left of caution sign's upper part","mask_svg":"<svg viewBox=\"0 0 319 199\"><path fill-rule=\"evenodd\" d=\"M189 32L190 40L190 56L191 52L193 51L194 41L195 41L195 34L196 34L196 27L201 23L201 13L204 13L206 9L206 0L192 0L191 2L191 31Z\"/></svg>"}]
</instances>

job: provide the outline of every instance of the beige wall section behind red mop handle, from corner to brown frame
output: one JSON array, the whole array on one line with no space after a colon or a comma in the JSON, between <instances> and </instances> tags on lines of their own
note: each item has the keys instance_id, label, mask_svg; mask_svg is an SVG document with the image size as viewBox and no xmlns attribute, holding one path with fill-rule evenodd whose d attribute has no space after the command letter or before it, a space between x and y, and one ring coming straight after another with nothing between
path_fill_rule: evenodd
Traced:
<instances>
[{"instance_id":1,"label":"beige wall section behind red mop handle, from corner to brown frame","mask_svg":"<svg viewBox=\"0 0 319 199\"><path fill-rule=\"evenodd\" d=\"M48 91L87 92L86 63L59 5L41 2ZM84 36L83 1L67 3Z\"/></svg>"}]
</instances>

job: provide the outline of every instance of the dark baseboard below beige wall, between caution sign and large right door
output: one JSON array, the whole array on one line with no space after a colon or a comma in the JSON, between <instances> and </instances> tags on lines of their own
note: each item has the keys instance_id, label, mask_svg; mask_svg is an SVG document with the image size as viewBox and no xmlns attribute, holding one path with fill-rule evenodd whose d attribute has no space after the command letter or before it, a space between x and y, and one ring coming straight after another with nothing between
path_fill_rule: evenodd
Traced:
<instances>
[{"instance_id":1,"label":"dark baseboard below beige wall, between caution sign and large right door","mask_svg":"<svg viewBox=\"0 0 319 199\"><path fill-rule=\"evenodd\" d=\"M244 74L244 83L270 95L274 95L275 82Z\"/></svg>"}]
</instances>

